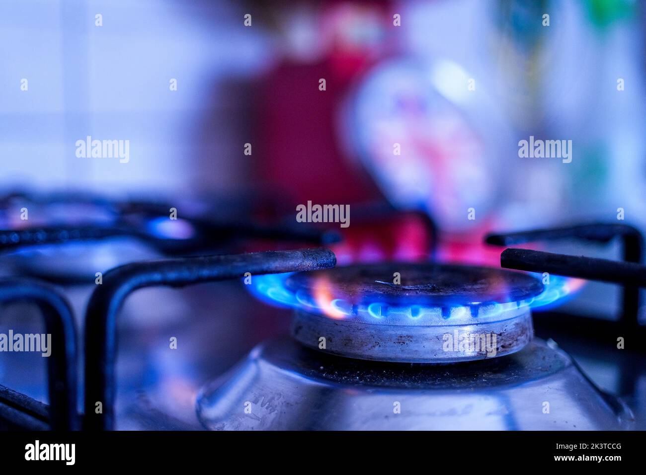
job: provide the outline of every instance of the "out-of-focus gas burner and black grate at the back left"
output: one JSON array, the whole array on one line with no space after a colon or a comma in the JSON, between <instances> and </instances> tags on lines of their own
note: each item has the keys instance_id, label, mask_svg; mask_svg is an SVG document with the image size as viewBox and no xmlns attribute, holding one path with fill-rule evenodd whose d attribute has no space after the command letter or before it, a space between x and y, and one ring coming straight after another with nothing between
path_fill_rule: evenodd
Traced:
<instances>
[{"instance_id":1,"label":"out-of-focus gas burner and black grate at the back left","mask_svg":"<svg viewBox=\"0 0 646 475\"><path fill-rule=\"evenodd\" d=\"M336 233L313 227L240 221L244 200L112 200L81 193L0 195L0 259L13 273L63 283L94 282L128 262L244 248L244 240L326 242ZM225 204L226 203L226 206ZM29 220L16 210L28 209ZM172 210L182 210L171 217ZM221 210L225 211L221 211Z\"/></svg>"}]
</instances>

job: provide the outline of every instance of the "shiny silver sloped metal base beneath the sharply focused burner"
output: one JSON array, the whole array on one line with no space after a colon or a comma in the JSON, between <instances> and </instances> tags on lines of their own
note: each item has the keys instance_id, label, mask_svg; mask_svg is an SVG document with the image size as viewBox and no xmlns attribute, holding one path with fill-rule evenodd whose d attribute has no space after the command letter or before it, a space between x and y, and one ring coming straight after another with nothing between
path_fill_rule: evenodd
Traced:
<instances>
[{"instance_id":1,"label":"shiny silver sloped metal base beneath the sharply focused burner","mask_svg":"<svg viewBox=\"0 0 646 475\"><path fill-rule=\"evenodd\" d=\"M633 416L554 344L451 365L358 361L289 339L255 348L198 397L214 430L618 430Z\"/></svg>"}]
</instances>

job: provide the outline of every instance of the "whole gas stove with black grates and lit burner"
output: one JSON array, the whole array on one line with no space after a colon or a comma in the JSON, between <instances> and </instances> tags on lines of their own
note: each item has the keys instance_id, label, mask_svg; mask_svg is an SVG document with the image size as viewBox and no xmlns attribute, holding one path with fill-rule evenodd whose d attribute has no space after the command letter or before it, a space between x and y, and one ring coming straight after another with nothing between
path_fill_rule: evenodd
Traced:
<instances>
[{"instance_id":1,"label":"whole gas stove with black grates and lit burner","mask_svg":"<svg viewBox=\"0 0 646 475\"><path fill-rule=\"evenodd\" d=\"M127 221L132 207L121 209L129 211L116 211L110 226ZM145 219L157 222L161 216L148 209ZM105 224L65 226L85 231L64 238L49 231L36 238L37 229L3 235L14 254L23 247L12 233L29 248L50 246L21 255L25 262L61 259L67 252L57 247L61 240L91 242L95 251L119 249L118 237L103 232ZM177 229L165 226L168 240ZM94 269L83 267L85 254L60 269L81 269L72 284L58 280L59 274L50 279L56 285L35 279L28 269L38 266L5 271L0 302L12 306L3 315L16 331L28 329L33 309L13 304L36 304L55 350L47 359L47 392L32 384L44 377L35 359L11 355L8 366L8 354L1 355L6 384L0 386L0 427L642 428L638 287L646 271L641 235L632 227L586 224L489 235L487 242L498 246L619 239L626 261L509 248L501 254L502 268L433 259L340 264L332 250L318 247L232 253L241 248L231 241L249 234L271 237L276 249L338 239L315 229L290 235L282 225L252 223L205 256L199 254L213 246L200 243L211 242L209 235L224 225L191 216L183 229L193 229L190 246L153 243L147 249L156 248L154 259L102 269L100 284ZM430 229L436 239L437 230ZM344 249L342 244L331 248ZM79 283L88 275L89 285ZM577 299L583 279L621 285L620 319L554 310ZM618 338L625 350L613 350ZM610 369L599 373L599 366ZM618 381L609 384L604 374Z\"/></svg>"}]
</instances>

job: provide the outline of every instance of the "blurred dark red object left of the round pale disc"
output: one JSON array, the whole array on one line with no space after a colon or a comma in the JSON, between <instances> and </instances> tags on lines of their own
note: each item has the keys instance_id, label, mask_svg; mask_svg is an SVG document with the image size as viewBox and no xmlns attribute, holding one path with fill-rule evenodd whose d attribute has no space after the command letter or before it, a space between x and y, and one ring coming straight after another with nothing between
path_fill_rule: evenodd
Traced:
<instances>
[{"instance_id":1,"label":"blurred dark red object left of the round pale disc","mask_svg":"<svg viewBox=\"0 0 646 475\"><path fill-rule=\"evenodd\" d=\"M337 123L354 81L386 48L388 3L333 2L318 13L325 45L315 63L284 61L258 87L256 180L295 204L349 204L380 198L377 185L343 156ZM326 90L319 90L319 79ZM256 153L257 151L257 153Z\"/></svg>"}]
</instances>

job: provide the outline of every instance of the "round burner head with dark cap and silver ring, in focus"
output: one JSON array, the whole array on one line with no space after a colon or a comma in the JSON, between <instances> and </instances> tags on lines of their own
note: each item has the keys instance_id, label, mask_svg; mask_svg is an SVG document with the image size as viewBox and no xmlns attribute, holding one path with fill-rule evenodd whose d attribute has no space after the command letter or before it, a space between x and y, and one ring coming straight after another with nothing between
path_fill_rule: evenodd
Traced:
<instances>
[{"instance_id":1,"label":"round burner head with dark cap and silver ring, in focus","mask_svg":"<svg viewBox=\"0 0 646 475\"><path fill-rule=\"evenodd\" d=\"M297 273L300 343L357 359L453 363L517 352L532 339L531 275L444 264L388 263Z\"/></svg>"}]
</instances>

